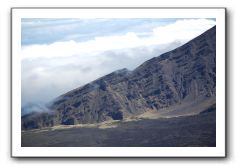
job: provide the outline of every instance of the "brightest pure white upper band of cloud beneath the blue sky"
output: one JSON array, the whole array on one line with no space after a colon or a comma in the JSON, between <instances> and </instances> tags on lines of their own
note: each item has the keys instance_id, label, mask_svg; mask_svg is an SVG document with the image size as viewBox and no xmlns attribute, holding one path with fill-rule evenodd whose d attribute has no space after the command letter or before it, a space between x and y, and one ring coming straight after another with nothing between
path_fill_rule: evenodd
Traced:
<instances>
[{"instance_id":1,"label":"brightest pure white upper band of cloud beneath the blue sky","mask_svg":"<svg viewBox=\"0 0 237 165\"><path fill-rule=\"evenodd\" d=\"M22 47L21 56L23 59L73 55L84 58L108 50L167 44L173 41L186 42L214 25L215 21L208 19L178 20L173 24L153 29L153 33L147 37L138 37L139 34L128 32L120 36L96 37L94 40L86 42L65 41L49 45L30 45Z\"/></svg>"}]
</instances>

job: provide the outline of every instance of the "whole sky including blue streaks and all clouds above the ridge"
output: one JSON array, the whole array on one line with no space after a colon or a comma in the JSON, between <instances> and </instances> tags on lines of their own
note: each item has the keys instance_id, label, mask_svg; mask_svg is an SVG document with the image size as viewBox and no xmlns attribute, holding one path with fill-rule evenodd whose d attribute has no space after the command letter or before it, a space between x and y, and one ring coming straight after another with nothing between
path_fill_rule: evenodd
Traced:
<instances>
[{"instance_id":1,"label":"whole sky including blue streaks and all clouds above the ridge","mask_svg":"<svg viewBox=\"0 0 237 165\"><path fill-rule=\"evenodd\" d=\"M46 104L118 69L133 70L215 24L203 18L22 19L22 106Z\"/></svg>"}]
</instances>

